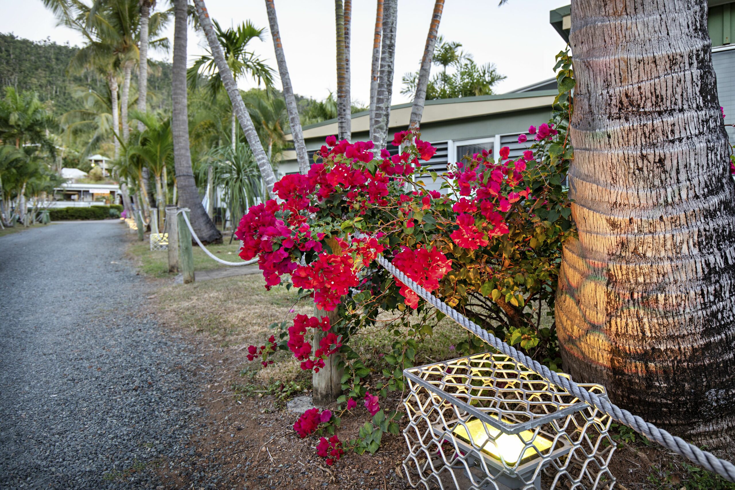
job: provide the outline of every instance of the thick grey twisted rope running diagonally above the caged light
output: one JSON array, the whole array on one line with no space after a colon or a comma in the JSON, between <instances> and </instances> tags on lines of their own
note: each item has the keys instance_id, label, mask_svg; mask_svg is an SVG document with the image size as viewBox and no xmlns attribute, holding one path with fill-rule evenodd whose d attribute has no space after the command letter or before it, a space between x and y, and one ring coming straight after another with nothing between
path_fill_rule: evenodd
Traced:
<instances>
[{"instance_id":1,"label":"thick grey twisted rope running diagonally above the caged light","mask_svg":"<svg viewBox=\"0 0 735 490\"><path fill-rule=\"evenodd\" d=\"M434 295L426 291L426 289L423 289L423 287L402 273L401 270L398 270L398 268L393 266L393 264L384 259L383 256L379 255L376 260L396 279L398 279L398 281L406 284L406 286L411 288L417 295L431 304L431 306L434 306L434 308L450 317L456 323L459 323L459 325L481 338L484 342L487 342L487 344L495 347L499 352L505 354L514 361L520 362L531 370L534 370L534 372L537 372L537 374L546 381L556 386L561 386L579 400L589 403L589 405L594 406L598 410L609 415L613 419L617 420L617 422L627 425L636 432L642 433L644 436L648 437L648 439L656 441L661 446L673 450L675 453L689 459L689 461L692 461L711 472L717 473L717 475L722 476L725 480L735 483L735 465L730 461L725 461L724 459L715 457L707 451L700 450L699 447L689 444L684 441L684 439L681 439L681 437L672 436L666 430L657 428L656 425L646 422L641 417L631 414L631 412L620 408L614 403L610 403L609 400L598 397L595 393L588 392L586 389L578 386L574 381L570 381L567 378L559 376L556 372L553 372L546 366L542 366L538 361L534 361L525 354L518 352L511 345L506 344L501 339L490 334L488 331L484 330L484 328L481 328L464 315L447 306L442 300L434 297Z\"/></svg>"}]
</instances>

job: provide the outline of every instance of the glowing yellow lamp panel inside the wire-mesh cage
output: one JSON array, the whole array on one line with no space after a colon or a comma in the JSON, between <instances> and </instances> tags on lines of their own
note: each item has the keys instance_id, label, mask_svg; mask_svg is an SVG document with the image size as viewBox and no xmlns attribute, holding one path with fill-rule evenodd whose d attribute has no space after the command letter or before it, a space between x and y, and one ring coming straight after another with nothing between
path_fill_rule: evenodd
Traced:
<instances>
[{"instance_id":1,"label":"glowing yellow lamp panel inside the wire-mesh cage","mask_svg":"<svg viewBox=\"0 0 735 490\"><path fill-rule=\"evenodd\" d=\"M498 418L495 417L495 415L490 415L490 417L494 419ZM482 447L483 453L491 455L498 461L500 461L501 455L503 455L503 459L507 464L515 464L515 462L518 461L518 457L525 446L523 441L534 439L533 430L523 430L523 432L518 434L508 434L504 433L500 429L492 427L492 425L482 422L480 419L472 419L466 422L466 424L467 429L470 430L470 434L472 435L472 440L475 445L477 447L482 447L484 444L484 447ZM485 431L486 429L487 432ZM465 430L462 425L457 425L452 432L459 436L460 439L470 442L470 438L467 436L467 430ZM490 438L487 437L487 434L490 434ZM500 434L500 436L498 436L498 434ZM521 438L523 438L523 441L520 440ZM485 444L486 442L487 444ZM523 460L534 458L538 455L536 450L534 450L534 447L539 453L543 454L545 450L548 450L551 447L552 442L539 435L536 436L536 439L534 439L534 442L532 442L531 445L533 447L528 447L528 449L523 452L523 459L521 460L522 463L525 462Z\"/></svg>"}]
</instances>

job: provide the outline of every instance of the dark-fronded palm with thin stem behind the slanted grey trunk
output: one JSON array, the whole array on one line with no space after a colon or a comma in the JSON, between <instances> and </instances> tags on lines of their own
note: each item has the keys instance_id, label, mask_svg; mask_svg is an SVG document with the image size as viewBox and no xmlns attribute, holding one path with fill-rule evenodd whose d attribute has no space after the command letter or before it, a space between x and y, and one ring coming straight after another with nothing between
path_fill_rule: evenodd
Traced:
<instances>
[{"instance_id":1,"label":"dark-fronded palm with thin stem behind the slanted grey trunk","mask_svg":"<svg viewBox=\"0 0 735 490\"><path fill-rule=\"evenodd\" d=\"M257 57L253 51L248 51L248 43L251 40L265 40L265 28L259 29L251 21L245 21L237 26L237 29L222 29L217 21L214 21L217 39L222 46L227 66L232 72L234 81L250 76L257 79L258 84L264 82L266 87L273 84L273 70L265 64L263 60ZM217 67L217 63L209 54L203 54L189 68L187 78L192 88L198 87L201 83L201 75L206 76L204 79L204 87L212 95L212 100L217 96L223 88L223 81ZM234 106L233 106L234 107ZM235 112L232 111L232 148L237 140L237 121L235 120Z\"/></svg>"}]
</instances>

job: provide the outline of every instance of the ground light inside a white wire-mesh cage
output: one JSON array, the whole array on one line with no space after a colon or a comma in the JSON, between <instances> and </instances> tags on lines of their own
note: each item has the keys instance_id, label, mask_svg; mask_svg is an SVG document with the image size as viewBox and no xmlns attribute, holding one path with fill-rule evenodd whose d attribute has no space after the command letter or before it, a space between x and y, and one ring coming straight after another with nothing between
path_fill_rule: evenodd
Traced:
<instances>
[{"instance_id":1,"label":"ground light inside a white wire-mesh cage","mask_svg":"<svg viewBox=\"0 0 735 490\"><path fill-rule=\"evenodd\" d=\"M404 370L414 488L612 489L610 417L508 356ZM579 386L606 397L598 384Z\"/></svg>"}]
</instances>

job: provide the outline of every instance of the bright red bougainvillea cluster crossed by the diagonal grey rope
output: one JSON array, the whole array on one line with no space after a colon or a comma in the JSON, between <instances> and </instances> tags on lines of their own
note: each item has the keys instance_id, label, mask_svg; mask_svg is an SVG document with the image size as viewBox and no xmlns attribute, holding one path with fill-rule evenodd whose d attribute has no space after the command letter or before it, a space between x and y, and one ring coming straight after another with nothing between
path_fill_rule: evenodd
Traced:
<instances>
[{"instance_id":1,"label":"bright red bougainvillea cluster crossed by the diagonal grey rope","mask_svg":"<svg viewBox=\"0 0 735 490\"><path fill-rule=\"evenodd\" d=\"M404 246L402 249L400 253L395 254L391 263L429 291L437 289L440 279L452 268L451 259L447 259L436 247L430 251L422 247L412 250ZM400 293L406 298L404 303L412 309L417 309L418 295L400 281L396 281L396 284L401 286Z\"/></svg>"}]
</instances>

